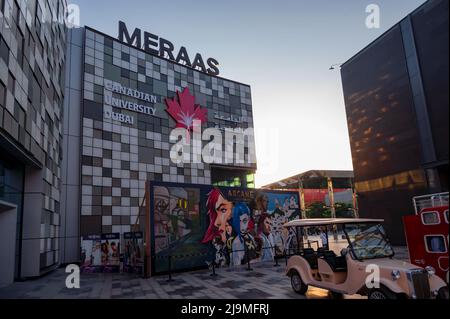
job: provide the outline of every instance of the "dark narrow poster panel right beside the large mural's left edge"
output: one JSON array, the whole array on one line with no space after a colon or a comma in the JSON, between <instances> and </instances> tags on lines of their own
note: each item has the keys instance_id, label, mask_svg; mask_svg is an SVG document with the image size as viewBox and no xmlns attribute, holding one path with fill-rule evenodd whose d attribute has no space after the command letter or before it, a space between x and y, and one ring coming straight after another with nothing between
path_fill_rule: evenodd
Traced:
<instances>
[{"instance_id":1,"label":"dark narrow poster panel right beside the large mural's left edge","mask_svg":"<svg viewBox=\"0 0 450 319\"><path fill-rule=\"evenodd\" d=\"M123 271L144 274L144 234L142 232L123 234Z\"/></svg>"}]
</instances>

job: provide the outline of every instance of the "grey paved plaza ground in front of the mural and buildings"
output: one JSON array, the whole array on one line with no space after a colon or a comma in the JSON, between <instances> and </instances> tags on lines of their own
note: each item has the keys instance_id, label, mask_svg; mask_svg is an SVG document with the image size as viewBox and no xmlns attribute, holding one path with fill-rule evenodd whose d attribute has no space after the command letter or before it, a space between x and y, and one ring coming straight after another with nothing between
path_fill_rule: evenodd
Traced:
<instances>
[{"instance_id":1,"label":"grey paved plaza ground in front of the mural and buildings","mask_svg":"<svg viewBox=\"0 0 450 319\"><path fill-rule=\"evenodd\" d=\"M396 249L398 259L407 259L404 249ZM0 289L0 298L45 299L284 299L305 296L294 293L290 280L273 263L253 265L253 271L242 268L218 269L218 276L202 270L150 279L129 274L82 274L80 289L67 289L64 269L26 282ZM328 298L326 290L310 288L306 298ZM361 298L361 296L345 296Z\"/></svg>"}]
</instances>

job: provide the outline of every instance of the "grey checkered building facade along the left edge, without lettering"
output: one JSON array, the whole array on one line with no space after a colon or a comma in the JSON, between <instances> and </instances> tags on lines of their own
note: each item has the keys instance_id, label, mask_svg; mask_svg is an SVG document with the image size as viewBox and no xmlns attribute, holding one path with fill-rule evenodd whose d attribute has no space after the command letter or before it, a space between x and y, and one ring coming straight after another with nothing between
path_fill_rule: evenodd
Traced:
<instances>
[{"instance_id":1,"label":"grey checkered building facade along the left edge, without lettering","mask_svg":"<svg viewBox=\"0 0 450 319\"><path fill-rule=\"evenodd\" d=\"M34 277L61 261L66 6L0 1L0 201L9 207L0 210L3 283L11 271Z\"/></svg>"}]
</instances>

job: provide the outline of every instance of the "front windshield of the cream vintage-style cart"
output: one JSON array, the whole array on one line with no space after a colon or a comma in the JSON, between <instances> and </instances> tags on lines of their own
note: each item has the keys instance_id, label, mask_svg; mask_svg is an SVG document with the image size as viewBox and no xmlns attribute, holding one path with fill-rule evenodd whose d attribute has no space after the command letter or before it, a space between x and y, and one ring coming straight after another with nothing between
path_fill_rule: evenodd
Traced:
<instances>
[{"instance_id":1,"label":"front windshield of the cream vintage-style cart","mask_svg":"<svg viewBox=\"0 0 450 319\"><path fill-rule=\"evenodd\" d=\"M356 258L374 259L394 255L394 250L380 224L348 224L344 230Z\"/></svg>"}]
</instances>

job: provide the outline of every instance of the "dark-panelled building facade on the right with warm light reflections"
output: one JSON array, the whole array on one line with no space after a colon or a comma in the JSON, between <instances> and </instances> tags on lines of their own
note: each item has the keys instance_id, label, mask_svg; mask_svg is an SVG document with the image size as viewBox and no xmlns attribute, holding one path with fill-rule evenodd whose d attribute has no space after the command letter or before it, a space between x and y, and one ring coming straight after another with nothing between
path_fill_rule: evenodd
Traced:
<instances>
[{"instance_id":1,"label":"dark-panelled building facade on the right with warm light reflections","mask_svg":"<svg viewBox=\"0 0 450 319\"><path fill-rule=\"evenodd\" d=\"M342 65L360 215L395 244L412 198L448 191L448 5L427 1Z\"/></svg>"}]
</instances>

